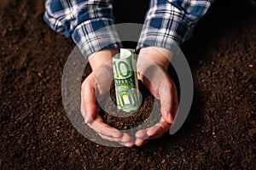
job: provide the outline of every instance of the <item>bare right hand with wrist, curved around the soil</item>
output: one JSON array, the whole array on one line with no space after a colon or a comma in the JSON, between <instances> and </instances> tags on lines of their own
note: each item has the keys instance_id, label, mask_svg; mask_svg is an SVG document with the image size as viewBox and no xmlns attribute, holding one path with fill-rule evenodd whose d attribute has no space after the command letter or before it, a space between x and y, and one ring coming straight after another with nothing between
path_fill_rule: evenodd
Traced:
<instances>
[{"instance_id":1,"label":"bare right hand with wrist, curved around the soil","mask_svg":"<svg viewBox=\"0 0 256 170\"><path fill-rule=\"evenodd\" d=\"M167 68L172 52L165 48L142 48L137 60L138 78L142 80L149 92L156 99L160 99L160 122L153 127L139 130L136 133L135 144L140 146L149 139L160 138L166 133L174 120L177 112L177 89L168 76ZM170 59L171 60L171 59Z\"/></svg>"}]
</instances>

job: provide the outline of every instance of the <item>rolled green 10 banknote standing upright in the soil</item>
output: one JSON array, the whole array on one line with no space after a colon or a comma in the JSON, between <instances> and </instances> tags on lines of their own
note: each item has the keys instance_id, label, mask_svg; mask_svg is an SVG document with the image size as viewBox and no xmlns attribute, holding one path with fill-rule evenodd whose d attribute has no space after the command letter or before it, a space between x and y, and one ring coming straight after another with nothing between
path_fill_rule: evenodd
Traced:
<instances>
[{"instance_id":1,"label":"rolled green 10 banknote standing upright in the soil","mask_svg":"<svg viewBox=\"0 0 256 170\"><path fill-rule=\"evenodd\" d=\"M140 102L134 49L121 48L120 53L113 56L113 77L117 108L137 111Z\"/></svg>"}]
</instances>

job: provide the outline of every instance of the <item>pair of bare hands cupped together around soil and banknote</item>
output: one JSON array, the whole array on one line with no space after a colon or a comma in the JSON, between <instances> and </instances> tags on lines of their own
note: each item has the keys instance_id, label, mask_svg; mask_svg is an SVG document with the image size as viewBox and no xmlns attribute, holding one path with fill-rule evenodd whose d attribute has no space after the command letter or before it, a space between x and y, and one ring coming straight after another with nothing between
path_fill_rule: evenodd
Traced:
<instances>
[{"instance_id":1,"label":"pair of bare hands cupped together around soil and banknote","mask_svg":"<svg viewBox=\"0 0 256 170\"><path fill-rule=\"evenodd\" d=\"M131 147L144 144L149 139L160 138L166 133L173 122L177 111L177 89L172 79L167 74L169 57L172 52L164 48L142 48L138 61L138 77L154 95L160 99L160 122L153 127L139 130L135 141L127 133L121 133L118 129L110 127L103 122L99 115L101 109L96 106L96 99L101 99L109 91L110 82L113 80L112 57L117 54L117 49L102 50L90 55L89 62L92 72L81 87L81 112L84 122L98 133L102 139L118 142Z\"/></svg>"}]
</instances>

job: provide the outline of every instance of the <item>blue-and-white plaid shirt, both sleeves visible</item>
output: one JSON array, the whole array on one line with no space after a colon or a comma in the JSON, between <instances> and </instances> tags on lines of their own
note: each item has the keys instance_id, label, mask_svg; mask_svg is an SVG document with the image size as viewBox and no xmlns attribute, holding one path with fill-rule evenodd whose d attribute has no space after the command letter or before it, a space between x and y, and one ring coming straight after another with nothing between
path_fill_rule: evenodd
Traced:
<instances>
[{"instance_id":1,"label":"blue-and-white plaid shirt, both sleeves visible","mask_svg":"<svg viewBox=\"0 0 256 170\"><path fill-rule=\"evenodd\" d=\"M146 46L171 49L173 42L179 45L189 37L211 3L211 0L150 0L137 49ZM73 37L85 58L104 48L122 47L112 26L112 0L45 0L45 8L44 20L53 30Z\"/></svg>"}]
</instances>

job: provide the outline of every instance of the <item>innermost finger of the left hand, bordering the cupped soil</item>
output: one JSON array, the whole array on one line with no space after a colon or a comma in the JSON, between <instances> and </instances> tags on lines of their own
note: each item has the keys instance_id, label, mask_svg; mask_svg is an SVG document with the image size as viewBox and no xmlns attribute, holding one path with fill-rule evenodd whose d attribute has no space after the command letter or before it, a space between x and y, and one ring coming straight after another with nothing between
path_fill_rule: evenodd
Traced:
<instances>
[{"instance_id":1,"label":"innermost finger of the left hand, bordering the cupped soil","mask_svg":"<svg viewBox=\"0 0 256 170\"><path fill-rule=\"evenodd\" d=\"M122 133L116 128L110 127L108 124L103 122L102 117L99 115L95 116L95 119L88 123L89 127L94 129L96 133L100 133L104 136L113 137L113 138L121 138Z\"/></svg>"}]
</instances>

